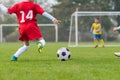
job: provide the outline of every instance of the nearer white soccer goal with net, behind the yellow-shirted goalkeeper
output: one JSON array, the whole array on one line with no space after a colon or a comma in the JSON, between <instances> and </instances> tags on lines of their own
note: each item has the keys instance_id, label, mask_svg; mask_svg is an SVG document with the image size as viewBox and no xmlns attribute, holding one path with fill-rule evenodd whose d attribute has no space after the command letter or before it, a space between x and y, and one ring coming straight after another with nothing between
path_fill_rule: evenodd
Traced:
<instances>
[{"instance_id":1,"label":"nearer white soccer goal with net, behind the yellow-shirted goalkeeper","mask_svg":"<svg viewBox=\"0 0 120 80\"><path fill-rule=\"evenodd\" d=\"M78 47L83 45L91 46L92 33L90 27L94 23L95 17L101 18L103 27L103 37L106 41L115 40L112 34L112 27L117 25L117 17L120 12L116 11L78 11L76 10L71 15L70 32L69 32L69 47ZM111 31L110 31L111 30ZM117 33L116 33L117 34ZM82 44L82 42L86 44ZM93 43L92 43L93 44Z\"/></svg>"}]
</instances>

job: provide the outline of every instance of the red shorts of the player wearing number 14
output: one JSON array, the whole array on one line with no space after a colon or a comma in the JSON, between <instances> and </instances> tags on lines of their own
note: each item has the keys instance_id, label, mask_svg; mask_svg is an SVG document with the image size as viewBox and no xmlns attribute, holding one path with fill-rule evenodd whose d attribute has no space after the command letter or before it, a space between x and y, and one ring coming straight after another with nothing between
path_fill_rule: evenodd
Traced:
<instances>
[{"instance_id":1,"label":"red shorts of the player wearing number 14","mask_svg":"<svg viewBox=\"0 0 120 80\"><path fill-rule=\"evenodd\" d=\"M19 27L21 41L36 40L42 38L42 33L36 22L21 24Z\"/></svg>"}]
</instances>

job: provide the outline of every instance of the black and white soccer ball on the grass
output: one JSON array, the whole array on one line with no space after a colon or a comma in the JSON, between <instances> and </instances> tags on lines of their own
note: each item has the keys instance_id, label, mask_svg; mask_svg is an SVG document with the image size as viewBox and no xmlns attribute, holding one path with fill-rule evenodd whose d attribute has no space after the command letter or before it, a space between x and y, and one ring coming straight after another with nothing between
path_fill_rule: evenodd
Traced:
<instances>
[{"instance_id":1,"label":"black and white soccer ball on the grass","mask_svg":"<svg viewBox=\"0 0 120 80\"><path fill-rule=\"evenodd\" d=\"M60 48L57 51L57 57L58 59L60 59L61 61L66 61L68 59L70 59L71 55L70 55L70 50L67 48Z\"/></svg>"}]
</instances>

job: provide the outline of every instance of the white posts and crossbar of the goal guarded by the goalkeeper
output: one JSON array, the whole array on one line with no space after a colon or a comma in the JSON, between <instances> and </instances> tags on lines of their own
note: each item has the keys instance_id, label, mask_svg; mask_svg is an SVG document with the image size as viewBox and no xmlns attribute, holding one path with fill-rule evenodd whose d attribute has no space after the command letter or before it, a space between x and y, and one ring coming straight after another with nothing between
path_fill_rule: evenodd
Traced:
<instances>
[{"instance_id":1,"label":"white posts and crossbar of the goal guarded by the goalkeeper","mask_svg":"<svg viewBox=\"0 0 120 80\"><path fill-rule=\"evenodd\" d=\"M78 46L78 17L82 16L118 16L120 15L120 11L78 11L76 10L71 15L70 21L70 32L69 32L69 47L77 47ZM71 37L72 37L72 28L73 28L73 20L75 24L75 45L71 45Z\"/></svg>"}]
</instances>

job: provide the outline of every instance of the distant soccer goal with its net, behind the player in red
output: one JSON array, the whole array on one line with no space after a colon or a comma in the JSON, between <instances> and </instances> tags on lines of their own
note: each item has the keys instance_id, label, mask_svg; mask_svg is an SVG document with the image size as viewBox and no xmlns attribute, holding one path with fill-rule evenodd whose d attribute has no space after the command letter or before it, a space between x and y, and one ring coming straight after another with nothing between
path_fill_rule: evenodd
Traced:
<instances>
[{"instance_id":1,"label":"distant soccer goal with its net, behind the player in red","mask_svg":"<svg viewBox=\"0 0 120 80\"><path fill-rule=\"evenodd\" d=\"M18 24L0 25L0 42L18 42ZM46 41L58 42L58 25L38 24Z\"/></svg>"}]
</instances>

